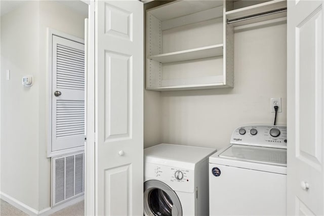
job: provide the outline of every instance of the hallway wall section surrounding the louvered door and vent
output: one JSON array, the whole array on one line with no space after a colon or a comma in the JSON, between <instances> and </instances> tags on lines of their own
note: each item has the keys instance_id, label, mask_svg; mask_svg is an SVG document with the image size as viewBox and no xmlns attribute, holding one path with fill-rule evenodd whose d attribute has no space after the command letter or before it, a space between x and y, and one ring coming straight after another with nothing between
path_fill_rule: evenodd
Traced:
<instances>
[{"instance_id":1,"label":"hallway wall section surrounding the louvered door and vent","mask_svg":"<svg viewBox=\"0 0 324 216\"><path fill-rule=\"evenodd\" d=\"M49 115L48 89L48 33L47 27L85 38L85 15L79 14L65 5L53 1L39 2L39 209L50 206L51 201L51 160L47 158L47 134Z\"/></svg>"}]
</instances>

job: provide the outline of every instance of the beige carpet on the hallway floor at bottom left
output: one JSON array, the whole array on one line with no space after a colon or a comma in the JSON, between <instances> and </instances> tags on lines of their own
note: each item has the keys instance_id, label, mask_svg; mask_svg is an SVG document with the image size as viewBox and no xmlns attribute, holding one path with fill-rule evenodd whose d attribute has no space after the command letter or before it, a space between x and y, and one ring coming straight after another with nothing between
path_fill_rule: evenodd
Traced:
<instances>
[{"instance_id":1,"label":"beige carpet on the hallway floor at bottom left","mask_svg":"<svg viewBox=\"0 0 324 216\"><path fill-rule=\"evenodd\" d=\"M1 207L0 207L0 215L1 216L20 216L20 215L28 215L25 212L22 212L18 208L12 206L8 202L0 199ZM55 212L51 215L61 215L61 216L83 216L85 215L85 203L84 201L78 202L74 205L66 207L60 211Z\"/></svg>"}]
</instances>

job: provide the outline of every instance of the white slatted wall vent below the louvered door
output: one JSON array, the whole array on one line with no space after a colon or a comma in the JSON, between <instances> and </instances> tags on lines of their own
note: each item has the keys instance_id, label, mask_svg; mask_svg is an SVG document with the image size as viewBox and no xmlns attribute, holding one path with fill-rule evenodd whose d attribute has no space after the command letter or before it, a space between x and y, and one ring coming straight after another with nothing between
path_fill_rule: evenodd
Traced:
<instances>
[{"instance_id":1,"label":"white slatted wall vent below the louvered door","mask_svg":"<svg viewBox=\"0 0 324 216\"><path fill-rule=\"evenodd\" d=\"M84 151L52 158L52 206L84 194L84 158Z\"/></svg>"}]
</instances>

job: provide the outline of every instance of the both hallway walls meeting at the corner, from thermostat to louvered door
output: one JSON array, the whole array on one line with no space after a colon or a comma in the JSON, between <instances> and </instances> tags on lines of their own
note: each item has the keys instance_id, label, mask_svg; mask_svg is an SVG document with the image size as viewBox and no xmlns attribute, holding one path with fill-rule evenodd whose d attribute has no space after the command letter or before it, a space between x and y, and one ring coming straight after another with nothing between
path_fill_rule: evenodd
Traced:
<instances>
[{"instance_id":1,"label":"both hallway walls meeting at the corner, from thermostat to louvered door","mask_svg":"<svg viewBox=\"0 0 324 216\"><path fill-rule=\"evenodd\" d=\"M51 204L47 27L84 38L85 18L53 1L28 1L1 17L1 192L37 211ZM25 75L30 88L21 85Z\"/></svg>"}]
</instances>

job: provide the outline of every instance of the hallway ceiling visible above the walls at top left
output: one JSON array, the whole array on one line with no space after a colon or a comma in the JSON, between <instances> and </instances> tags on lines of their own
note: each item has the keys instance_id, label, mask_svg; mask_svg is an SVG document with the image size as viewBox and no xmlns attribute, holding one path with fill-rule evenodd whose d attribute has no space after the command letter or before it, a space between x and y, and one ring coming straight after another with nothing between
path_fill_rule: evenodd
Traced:
<instances>
[{"instance_id":1,"label":"hallway ceiling visible above the walls at top left","mask_svg":"<svg viewBox=\"0 0 324 216\"><path fill-rule=\"evenodd\" d=\"M29 1L32 1L32 0L29 0ZM51 0L51 1L54 1L54 0ZM0 16L3 16L5 14L15 10L20 5L22 5L26 2L27 1L0 0ZM59 2L63 5L65 5L67 8L70 8L80 14L88 16L88 5L86 3L84 3L83 1L60 0L60 1L55 1L55 2Z\"/></svg>"}]
</instances>

